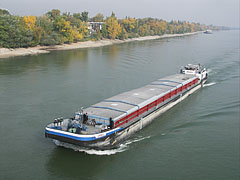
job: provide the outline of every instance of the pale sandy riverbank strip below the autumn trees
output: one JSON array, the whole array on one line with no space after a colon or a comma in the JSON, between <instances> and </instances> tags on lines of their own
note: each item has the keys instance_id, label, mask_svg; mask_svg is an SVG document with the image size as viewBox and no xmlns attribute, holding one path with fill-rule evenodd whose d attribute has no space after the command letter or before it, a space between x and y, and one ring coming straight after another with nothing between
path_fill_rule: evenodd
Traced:
<instances>
[{"instance_id":1,"label":"pale sandy riverbank strip below the autumn trees","mask_svg":"<svg viewBox=\"0 0 240 180\"><path fill-rule=\"evenodd\" d=\"M189 35L194 35L197 33L200 33L200 32L184 33L184 34L164 34L162 36L144 36L144 37L132 38L132 39L126 39L126 40L105 39L105 40L100 40L100 41L85 41L85 42L62 44L62 45L55 45L55 46L36 46L36 47L31 47L31 48L16 48L16 49L0 48L0 58L49 53L49 52L55 51L55 50L71 50L71 49L80 49L80 48L101 47L101 46L109 46L109 45L113 45L113 44L121 44L121 43L125 43L125 42L189 36Z\"/></svg>"}]
</instances>

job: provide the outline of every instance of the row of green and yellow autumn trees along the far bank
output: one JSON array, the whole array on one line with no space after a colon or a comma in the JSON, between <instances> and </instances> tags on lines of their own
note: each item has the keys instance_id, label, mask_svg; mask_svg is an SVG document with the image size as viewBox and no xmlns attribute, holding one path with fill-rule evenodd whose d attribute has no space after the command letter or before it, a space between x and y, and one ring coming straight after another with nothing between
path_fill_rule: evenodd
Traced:
<instances>
[{"instance_id":1,"label":"row of green and yellow autumn trees along the far bank","mask_svg":"<svg viewBox=\"0 0 240 180\"><path fill-rule=\"evenodd\" d=\"M89 31L88 20L103 22L103 24L101 26L95 24L94 28ZM139 36L179 34L206 29L217 30L219 27L186 21L166 22L154 18L126 17L120 20L114 12L106 20L101 13L89 19L87 11L61 14L58 9L53 9L39 17L19 17L0 9L0 47L6 48L51 46L102 38L124 40Z\"/></svg>"}]
</instances>

